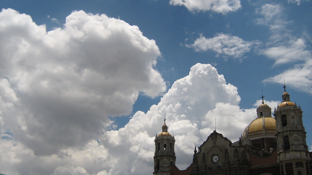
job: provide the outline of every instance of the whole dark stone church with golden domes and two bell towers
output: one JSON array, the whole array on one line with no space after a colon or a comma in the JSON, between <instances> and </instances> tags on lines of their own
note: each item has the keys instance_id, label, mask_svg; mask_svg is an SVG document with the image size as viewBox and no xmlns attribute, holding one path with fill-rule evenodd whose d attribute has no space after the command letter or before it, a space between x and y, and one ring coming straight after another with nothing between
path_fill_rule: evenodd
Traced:
<instances>
[{"instance_id":1,"label":"whole dark stone church with golden domes and two bell towers","mask_svg":"<svg viewBox=\"0 0 312 175\"><path fill-rule=\"evenodd\" d=\"M274 117L262 96L257 118L238 141L232 143L214 130L198 151L195 147L186 170L175 166L175 139L165 122L162 129L155 137L154 175L312 175L302 110L290 101L285 86Z\"/></svg>"}]
</instances>

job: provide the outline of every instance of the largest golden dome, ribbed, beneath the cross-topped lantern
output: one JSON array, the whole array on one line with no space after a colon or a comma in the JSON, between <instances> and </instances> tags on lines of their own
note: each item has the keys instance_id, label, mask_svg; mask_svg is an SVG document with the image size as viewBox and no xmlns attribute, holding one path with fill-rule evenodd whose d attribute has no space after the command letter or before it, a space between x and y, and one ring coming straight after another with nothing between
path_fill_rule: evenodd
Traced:
<instances>
[{"instance_id":1,"label":"largest golden dome, ribbed, beneath the cross-topped lantern","mask_svg":"<svg viewBox=\"0 0 312 175\"><path fill-rule=\"evenodd\" d=\"M261 134L275 134L276 123L272 117L261 117L253 120L245 129L243 139Z\"/></svg>"}]
</instances>

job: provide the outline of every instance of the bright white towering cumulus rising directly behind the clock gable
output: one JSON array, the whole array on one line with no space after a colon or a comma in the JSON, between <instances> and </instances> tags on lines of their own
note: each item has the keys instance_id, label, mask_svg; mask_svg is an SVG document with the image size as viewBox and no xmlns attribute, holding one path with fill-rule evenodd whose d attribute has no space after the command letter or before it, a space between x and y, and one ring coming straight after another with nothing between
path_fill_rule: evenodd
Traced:
<instances>
[{"instance_id":1,"label":"bright white towering cumulus rising directly behind the clock gable","mask_svg":"<svg viewBox=\"0 0 312 175\"><path fill-rule=\"evenodd\" d=\"M136 171L133 174L153 171L154 138L161 132L164 115L168 131L176 140L178 167L191 164L194 146L200 146L214 130L215 118L219 132L237 141L256 117L255 109L240 109L240 100L237 88L227 84L217 69L210 64L194 65L189 75L174 82L161 101L151 106L146 114L138 111L124 128L105 132L101 139L103 146L114 150L111 157L122 156L110 173L124 174L131 172L133 167ZM232 130L227 130L228 127Z\"/></svg>"}]
</instances>

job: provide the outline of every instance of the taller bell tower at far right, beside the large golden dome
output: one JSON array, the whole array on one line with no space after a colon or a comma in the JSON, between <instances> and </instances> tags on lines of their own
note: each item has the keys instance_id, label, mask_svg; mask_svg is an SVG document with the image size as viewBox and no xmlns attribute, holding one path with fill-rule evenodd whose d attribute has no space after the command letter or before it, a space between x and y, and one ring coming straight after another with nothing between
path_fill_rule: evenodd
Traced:
<instances>
[{"instance_id":1,"label":"taller bell tower at far right, beside the large golden dome","mask_svg":"<svg viewBox=\"0 0 312 175\"><path fill-rule=\"evenodd\" d=\"M302 122L300 106L290 101L290 95L284 85L283 102L274 110L276 120L277 162L281 175L307 174L309 170L309 152L306 132Z\"/></svg>"}]
</instances>

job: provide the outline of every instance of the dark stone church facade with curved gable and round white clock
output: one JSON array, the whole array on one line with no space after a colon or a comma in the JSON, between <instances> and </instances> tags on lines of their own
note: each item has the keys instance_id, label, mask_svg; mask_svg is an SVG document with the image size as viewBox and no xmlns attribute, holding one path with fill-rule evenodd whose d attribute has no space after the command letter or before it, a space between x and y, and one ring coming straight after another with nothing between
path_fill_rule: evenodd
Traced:
<instances>
[{"instance_id":1,"label":"dark stone church facade with curved gable and round white clock","mask_svg":"<svg viewBox=\"0 0 312 175\"><path fill-rule=\"evenodd\" d=\"M248 174L249 156L242 146L233 146L222 134L213 131L193 156L197 174Z\"/></svg>"}]
</instances>

